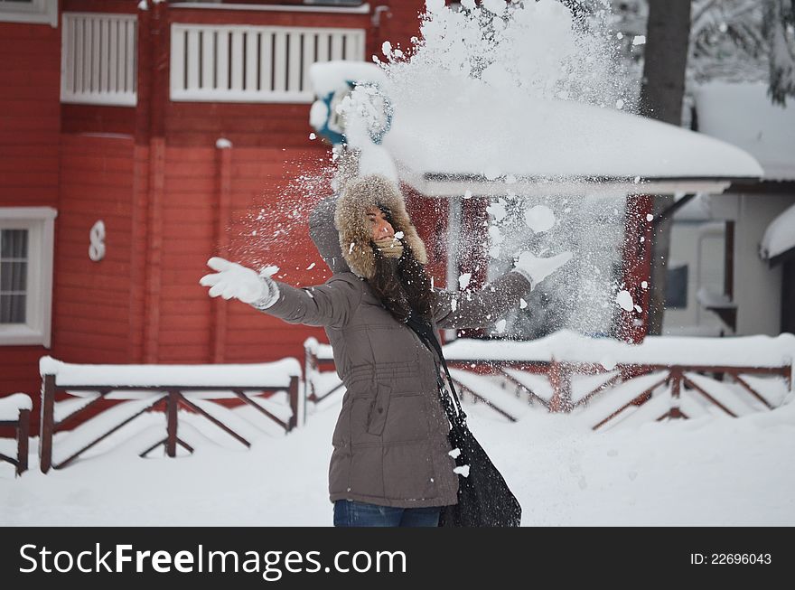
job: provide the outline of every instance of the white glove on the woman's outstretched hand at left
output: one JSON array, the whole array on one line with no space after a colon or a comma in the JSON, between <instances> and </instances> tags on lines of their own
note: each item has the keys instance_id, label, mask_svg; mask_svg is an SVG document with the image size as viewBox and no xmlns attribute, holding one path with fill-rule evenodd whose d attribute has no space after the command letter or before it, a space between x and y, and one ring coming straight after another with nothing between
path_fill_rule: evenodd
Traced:
<instances>
[{"instance_id":1,"label":"white glove on the woman's outstretched hand at left","mask_svg":"<svg viewBox=\"0 0 795 590\"><path fill-rule=\"evenodd\" d=\"M219 257L210 258L207 266L218 271L199 279L201 286L210 287L210 297L234 297L257 309L266 309L276 303L279 289L276 281L267 274L257 275L250 268Z\"/></svg>"}]
</instances>

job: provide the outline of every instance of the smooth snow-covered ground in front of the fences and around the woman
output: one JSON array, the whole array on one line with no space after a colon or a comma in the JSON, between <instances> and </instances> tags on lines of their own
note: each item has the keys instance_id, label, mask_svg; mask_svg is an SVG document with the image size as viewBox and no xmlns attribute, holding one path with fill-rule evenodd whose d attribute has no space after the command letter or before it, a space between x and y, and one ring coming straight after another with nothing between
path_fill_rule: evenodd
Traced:
<instances>
[{"instance_id":1,"label":"smooth snow-covered ground in front of the fences and around the woman","mask_svg":"<svg viewBox=\"0 0 795 590\"><path fill-rule=\"evenodd\" d=\"M0 464L0 525L331 526L326 474L340 400L308 408L306 426L263 434L250 450L208 440L190 456L141 459L136 436L43 475L34 439L31 471L14 479ZM598 433L543 410L509 423L467 407L524 526L795 525L791 393L745 417Z\"/></svg>"}]
</instances>

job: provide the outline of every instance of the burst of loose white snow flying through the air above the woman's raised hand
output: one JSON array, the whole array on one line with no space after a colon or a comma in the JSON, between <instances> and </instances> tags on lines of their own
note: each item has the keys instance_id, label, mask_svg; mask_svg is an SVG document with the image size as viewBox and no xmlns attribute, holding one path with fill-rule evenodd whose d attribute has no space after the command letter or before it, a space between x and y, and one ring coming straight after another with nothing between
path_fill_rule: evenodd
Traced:
<instances>
[{"instance_id":1,"label":"burst of loose white snow flying through the air above the woman's raised hand","mask_svg":"<svg viewBox=\"0 0 795 590\"><path fill-rule=\"evenodd\" d=\"M411 161L415 170L476 178L451 198L451 248L459 256L485 249L487 280L510 270L522 250L575 253L526 306L491 327L494 335L536 338L562 328L601 335L622 313L616 295L625 195L576 188L580 163L566 158L576 126L556 118L580 106L627 111L635 102L609 31L609 2L582 5L587 10L573 13L556 0L464 0L455 8L427 0L420 39L409 48L383 47L394 126L414 119L426 132L414 145L385 138L398 169ZM540 139L544 129L549 141ZM535 166L542 158L546 170ZM542 173L540 190L522 182ZM485 231L456 227L462 207L478 199L487 200ZM452 260L447 283L478 270Z\"/></svg>"}]
</instances>

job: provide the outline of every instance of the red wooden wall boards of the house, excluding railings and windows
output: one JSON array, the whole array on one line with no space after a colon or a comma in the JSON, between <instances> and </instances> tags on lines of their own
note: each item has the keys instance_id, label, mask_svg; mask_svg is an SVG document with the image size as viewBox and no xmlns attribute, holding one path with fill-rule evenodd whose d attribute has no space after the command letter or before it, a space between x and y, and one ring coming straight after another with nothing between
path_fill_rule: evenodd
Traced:
<instances>
[{"instance_id":1,"label":"red wooden wall boards of the house, excluding railings and windows","mask_svg":"<svg viewBox=\"0 0 795 590\"><path fill-rule=\"evenodd\" d=\"M62 0L61 11L138 14L136 108L61 105L61 28L0 23L0 206L59 211L52 349L0 349L0 395L37 398L44 354L97 363L253 362L302 359L306 337L324 341L320 328L212 300L198 284L216 254L252 267L276 264L294 286L330 276L306 223L330 193L329 150L309 139L310 105L169 101L169 25L364 29L369 61L384 40L406 48L418 33L422 0L385 4L390 15L380 14L375 27L370 14L165 4L141 12L129 0ZM233 147L217 148L220 137ZM444 239L432 236L446 235L446 203L416 198L409 209L442 285ZM89 229L100 219L107 252L93 262Z\"/></svg>"}]
</instances>

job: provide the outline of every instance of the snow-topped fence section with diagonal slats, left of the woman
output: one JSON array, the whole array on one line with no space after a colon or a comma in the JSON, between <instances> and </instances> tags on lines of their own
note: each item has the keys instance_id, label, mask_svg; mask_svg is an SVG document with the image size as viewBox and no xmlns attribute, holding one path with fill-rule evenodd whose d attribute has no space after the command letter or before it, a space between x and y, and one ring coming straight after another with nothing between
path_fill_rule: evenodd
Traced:
<instances>
[{"instance_id":1,"label":"snow-topped fence section with diagonal slats, left of the woman","mask_svg":"<svg viewBox=\"0 0 795 590\"><path fill-rule=\"evenodd\" d=\"M49 357L45 357L49 359ZM113 384L98 383L97 375L93 377L80 371L79 365L67 365L59 361L50 360L46 363L48 368L55 370L42 370L42 420L40 425L39 459L43 473L51 468L59 469L73 462L81 454L98 445L108 436L113 435L123 426L126 426L145 412L160 410L165 415L165 435L162 440L148 447L140 456L146 456L158 446L164 446L165 454L174 457L177 446L188 452L193 451L178 434L179 433L179 408L187 409L192 414L204 417L211 424L230 435L242 445L250 446L249 440L234 428L225 424L219 417L218 407L213 402L219 400L236 400L257 410L259 414L267 417L269 421L284 428L285 432L291 431L297 424L303 403L299 398L300 366L294 359L285 359L276 363L262 365L196 365L175 366L173 380L167 379L170 373L168 365L89 365L90 368L102 368L102 376L108 379L115 370L123 371L124 376L113 379ZM42 365L43 366L43 365ZM67 367L71 370L69 375L63 375L58 369ZM263 378L259 383L252 371L263 369ZM186 374L185 370L192 371ZM153 374L154 371L154 374ZM206 375L202 376L202 371ZM248 371L248 374L245 374ZM67 371L68 372L68 371ZM137 378L130 378L139 375ZM182 375L182 381L178 380ZM213 377L214 376L214 377ZM220 376L225 376L221 378ZM63 379L61 379L63 378ZM226 379L226 381L220 380ZM108 379L110 380L110 379ZM203 384L199 384L201 381ZM126 382L126 385L118 383ZM278 417L261 401L257 401L263 394L273 394L286 391L289 399L289 416ZM56 397L71 398L56 401ZM56 418L56 406L66 405L66 415ZM116 412L114 418L108 417L109 404L113 408L120 405L124 412ZM75 409L71 409L75 407ZM216 414L215 416L213 414ZM121 416L119 416L121 414ZM66 430L68 426L79 421L86 424L88 420L100 420L101 424L88 439L79 444L79 448L70 451L68 456L61 460L53 460L54 435Z\"/></svg>"}]
</instances>

